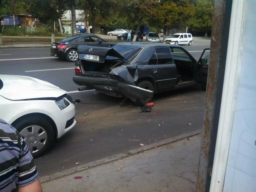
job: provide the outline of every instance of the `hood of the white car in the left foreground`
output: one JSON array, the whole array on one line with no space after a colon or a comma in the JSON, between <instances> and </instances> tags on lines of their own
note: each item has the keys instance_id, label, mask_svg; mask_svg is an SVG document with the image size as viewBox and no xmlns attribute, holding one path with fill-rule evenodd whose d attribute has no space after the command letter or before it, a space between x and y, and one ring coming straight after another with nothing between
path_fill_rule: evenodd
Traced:
<instances>
[{"instance_id":1,"label":"hood of the white car in the left foreground","mask_svg":"<svg viewBox=\"0 0 256 192\"><path fill-rule=\"evenodd\" d=\"M66 91L36 78L20 75L0 75L4 86L0 95L10 100L59 97Z\"/></svg>"}]
</instances>

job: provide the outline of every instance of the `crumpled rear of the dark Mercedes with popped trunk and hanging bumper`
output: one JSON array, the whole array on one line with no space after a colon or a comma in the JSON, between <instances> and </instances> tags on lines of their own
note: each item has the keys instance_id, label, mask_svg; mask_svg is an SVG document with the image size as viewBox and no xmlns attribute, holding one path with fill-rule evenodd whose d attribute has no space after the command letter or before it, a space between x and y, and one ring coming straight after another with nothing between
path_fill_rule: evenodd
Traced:
<instances>
[{"instance_id":1,"label":"crumpled rear of the dark Mercedes with popped trunk and hanging bumper","mask_svg":"<svg viewBox=\"0 0 256 192\"><path fill-rule=\"evenodd\" d=\"M76 74L73 80L76 84L85 85L107 95L113 96L115 92L132 101L146 100L153 91L135 86L138 69L137 66L130 64L139 51L140 48L126 46L78 46L79 60L76 64L82 74ZM126 65L132 66L132 75Z\"/></svg>"}]
</instances>

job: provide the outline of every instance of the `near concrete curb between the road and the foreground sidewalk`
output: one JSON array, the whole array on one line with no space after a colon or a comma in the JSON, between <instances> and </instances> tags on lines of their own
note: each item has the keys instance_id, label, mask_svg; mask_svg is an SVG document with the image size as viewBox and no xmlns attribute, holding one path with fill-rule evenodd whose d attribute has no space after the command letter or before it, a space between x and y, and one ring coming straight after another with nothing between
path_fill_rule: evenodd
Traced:
<instances>
[{"instance_id":1,"label":"near concrete curb between the road and the foreground sidewalk","mask_svg":"<svg viewBox=\"0 0 256 192\"><path fill-rule=\"evenodd\" d=\"M120 153L120 154L117 154L117 155L113 155L113 156L110 156L110 157L106 157L106 158L103 158L103 159L92 161L92 162L86 163L84 165L79 165L79 166L67 169L65 171L56 172L52 175L46 175L46 176L43 176L43 177L39 177L39 181L41 183L44 183L44 182L47 182L47 181L55 180L55 179L58 179L60 177L64 177L64 176L73 174L75 172L84 171L84 170L90 169L92 167L107 164L107 163L110 163L112 161L116 161L116 160L119 160L119 159L123 159L123 158L129 157L129 156L141 153L143 151L154 149L155 146L159 147L159 146L162 146L162 145L167 145L167 144L170 144L170 143L174 143L178 140L182 140L182 139L185 139L185 138L188 138L188 137L192 137L192 136L198 135L200 133L201 133L201 129L190 132L190 133L182 134L182 135L179 135L179 136L174 137L174 138L165 139L161 142L153 143L153 144L150 144L150 145L140 147L138 149L130 150L130 151L128 151L128 153Z\"/></svg>"}]
</instances>

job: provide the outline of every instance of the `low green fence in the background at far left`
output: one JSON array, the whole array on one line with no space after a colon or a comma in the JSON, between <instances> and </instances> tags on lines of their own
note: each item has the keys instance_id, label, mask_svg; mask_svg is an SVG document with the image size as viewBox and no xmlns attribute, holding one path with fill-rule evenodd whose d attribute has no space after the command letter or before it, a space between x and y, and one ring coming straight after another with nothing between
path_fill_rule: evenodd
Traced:
<instances>
[{"instance_id":1,"label":"low green fence in the background at far left","mask_svg":"<svg viewBox=\"0 0 256 192\"><path fill-rule=\"evenodd\" d=\"M22 35L50 35L50 27L21 27L17 25L4 25L2 35L6 36L22 36Z\"/></svg>"}]
</instances>

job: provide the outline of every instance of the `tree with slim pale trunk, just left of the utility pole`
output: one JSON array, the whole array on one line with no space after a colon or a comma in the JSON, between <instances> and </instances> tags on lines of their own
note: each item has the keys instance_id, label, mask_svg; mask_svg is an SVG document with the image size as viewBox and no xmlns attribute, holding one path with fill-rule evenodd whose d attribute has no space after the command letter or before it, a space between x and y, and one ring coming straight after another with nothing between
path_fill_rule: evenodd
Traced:
<instances>
[{"instance_id":1,"label":"tree with slim pale trunk, just left of the utility pole","mask_svg":"<svg viewBox=\"0 0 256 192\"><path fill-rule=\"evenodd\" d=\"M30 11L42 23L51 23L52 42L55 41L54 21L68 10L66 0L30 0Z\"/></svg>"}]
</instances>

